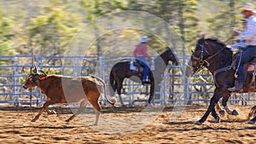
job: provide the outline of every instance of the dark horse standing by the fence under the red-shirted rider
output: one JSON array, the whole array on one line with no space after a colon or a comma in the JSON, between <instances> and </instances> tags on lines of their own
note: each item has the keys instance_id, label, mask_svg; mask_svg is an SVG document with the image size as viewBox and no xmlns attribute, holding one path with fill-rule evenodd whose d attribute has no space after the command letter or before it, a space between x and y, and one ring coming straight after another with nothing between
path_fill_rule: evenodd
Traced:
<instances>
[{"instance_id":1,"label":"dark horse standing by the fence under the red-shirted rider","mask_svg":"<svg viewBox=\"0 0 256 144\"><path fill-rule=\"evenodd\" d=\"M178 65L178 61L175 55L173 55L171 49L167 49L164 53L158 56L154 60L155 70L148 72L148 77L150 79L150 95L148 98L148 103L152 102L152 98L154 95L154 89L157 84L162 80L162 76L166 70L166 66L169 61L172 61L176 66ZM125 78L131 78L132 81L136 83L143 82L143 72L137 72L130 70L130 60L120 61L116 63L110 72L109 76L109 85L110 85L110 95L113 96L114 92L117 90L119 95L119 100L123 105L123 101L121 99L121 89L123 86L123 81ZM135 76L135 77L132 77Z\"/></svg>"}]
</instances>

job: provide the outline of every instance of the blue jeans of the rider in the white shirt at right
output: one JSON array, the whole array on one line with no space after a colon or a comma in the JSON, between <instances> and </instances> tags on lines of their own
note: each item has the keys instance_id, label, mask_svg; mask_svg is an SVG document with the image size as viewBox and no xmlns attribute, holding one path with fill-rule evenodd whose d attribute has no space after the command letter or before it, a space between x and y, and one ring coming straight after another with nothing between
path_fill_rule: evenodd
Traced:
<instances>
[{"instance_id":1,"label":"blue jeans of the rider in the white shirt at right","mask_svg":"<svg viewBox=\"0 0 256 144\"><path fill-rule=\"evenodd\" d=\"M241 57L240 66L237 69L237 81L239 84L245 83L245 73L243 71L243 65L253 60L253 57L256 55L256 46L247 46L246 48L241 49L241 55L236 56L236 69L239 64L239 60Z\"/></svg>"}]
</instances>

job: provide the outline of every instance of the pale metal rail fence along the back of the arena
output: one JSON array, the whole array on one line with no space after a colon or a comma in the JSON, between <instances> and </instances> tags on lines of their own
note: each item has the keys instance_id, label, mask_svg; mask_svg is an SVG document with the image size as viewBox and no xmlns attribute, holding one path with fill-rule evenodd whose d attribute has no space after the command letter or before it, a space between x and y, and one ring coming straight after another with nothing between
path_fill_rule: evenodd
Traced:
<instances>
[{"instance_id":1,"label":"pale metal rail fence along the back of the arena","mask_svg":"<svg viewBox=\"0 0 256 144\"><path fill-rule=\"evenodd\" d=\"M17 55L0 56L7 65L0 66L0 103L20 106L41 106L46 97L36 89L23 89L25 81L32 64L49 74L64 74L69 76L96 75L104 79L108 85L110 70L119 60L132 60L131 57L102 56L44 56L44 55ZM183 83L183 73L180 68L184 66L167 66L164 78L159 84L154 95L154 102L160 105L180 102L183 104L207 105L212 97L214 85L211 74L195 75L190 78L189 84ZM201 80L203 79L203 80ZM207 79L207 80L205 80ZM188 86L189 89L183 89ZM148 85L136 84L125 79L122 91L123 101L134 105L135 102L148 100ZM187 94L187 95L186 95ZM189 95L189 96L188 96ZM232 95L231 104L246 105L248 102L254 104L254 93L246 95ZM100 102L106 103L101 98Z\"/></svg>"}]
</instances>

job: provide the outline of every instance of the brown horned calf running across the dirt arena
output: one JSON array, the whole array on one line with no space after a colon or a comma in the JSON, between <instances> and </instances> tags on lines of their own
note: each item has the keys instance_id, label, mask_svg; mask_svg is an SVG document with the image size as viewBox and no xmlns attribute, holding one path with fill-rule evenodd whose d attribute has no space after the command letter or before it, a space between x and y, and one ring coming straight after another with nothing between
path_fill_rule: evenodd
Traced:
<instances>
[{"instance_id":1,"label":"brown horned calf running across the dirt arena","mask_svg":"<svg viewBox=\"0 0 256 144\"><path fill-rule=\"evenodd\" d=\"M101 78L96 78L94 76L74 78L47 75L43 71L38 71L37 67L34 66L33 70L31 68L31 73L28 78L26 78L23 88L28 89L35 86L38 86L38 89L47 96L47 101L44 103L44 106L38 115L32 119L32 122L38 120L39 116L47 107L49 107L49 105L80 102L79 110L66 120L69 122L75 118L76 115L84 111L86 104L89 101L96 111L96 125L98 124L101 111L101 106L99 105L98 100L102 88L104 89L104 95L107 101L111 105L114 105L114 102L109 101L107 98L104 81Z\"/></svg>"}]
</instances>

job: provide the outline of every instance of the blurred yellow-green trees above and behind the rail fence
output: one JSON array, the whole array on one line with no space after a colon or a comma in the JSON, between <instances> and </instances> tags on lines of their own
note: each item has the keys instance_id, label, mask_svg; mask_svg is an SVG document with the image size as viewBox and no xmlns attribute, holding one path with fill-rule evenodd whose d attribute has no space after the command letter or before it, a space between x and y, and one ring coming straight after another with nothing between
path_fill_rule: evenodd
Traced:
<instances>
[{"instance_id":1,"label":"blurred yellow-green trees above and behind the rail fence","mask_svg":"<svg viewBox=\"0 0 256 144\"><path fill-rule=\"evenodd\" d=\"M194 49L201 34L225 41L241 24L241 0L30 0L0 1L0 55L63 55L73 35L104 14L123 10L144 11L166 20L183 38L185 48ZM254 3L255 2L251 2ZM98 27L95 26L95 29ZM159 30L161 31L161 30ZM119 33L119 34L117 34ZM97 33L90 33L95 34ZM122 30L109 32L92 46L101 55L101 43L111 45L108 37L140 37L145 32ZM131 36L132 35L132 36ZM104 44L103 44L104 45ZM131 45L131 49L135 45ZM149 46L165 48L152 36ZM0 60L1 64L4 63Z\"/></svg>"}]
</instances>

